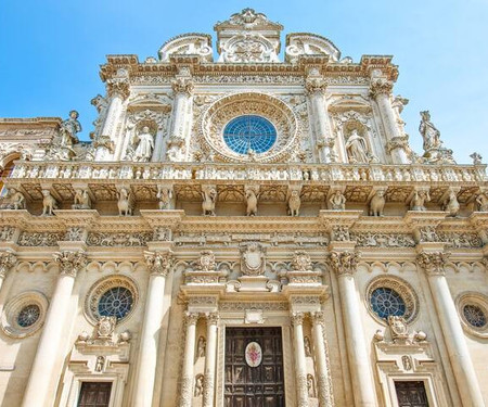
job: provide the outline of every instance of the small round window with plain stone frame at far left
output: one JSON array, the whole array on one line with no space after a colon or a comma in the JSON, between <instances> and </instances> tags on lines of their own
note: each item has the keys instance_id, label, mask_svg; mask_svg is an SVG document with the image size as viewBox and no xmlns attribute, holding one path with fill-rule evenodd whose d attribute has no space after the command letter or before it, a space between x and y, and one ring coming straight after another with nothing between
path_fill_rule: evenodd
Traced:
<instances>
[{"instance_id":1,"label":"small round window with plain stone frame at far left","mask_svg":"<svg viewBox=\"0 0 488 407\"><path fill-rule=\"evenodd\" d=\"M48 300L39 292L26 292L12 298L4 307L1 327L12 338L25 338L37 332L44 322Z\"/></svg>"}]
</instances>

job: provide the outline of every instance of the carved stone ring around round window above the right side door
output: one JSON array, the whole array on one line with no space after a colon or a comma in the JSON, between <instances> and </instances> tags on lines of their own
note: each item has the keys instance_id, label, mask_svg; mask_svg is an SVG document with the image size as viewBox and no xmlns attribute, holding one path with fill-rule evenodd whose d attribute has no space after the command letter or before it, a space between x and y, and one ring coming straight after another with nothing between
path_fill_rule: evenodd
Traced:
<instances>
[{"instance_id":1,"label":"carved stone ring around round window above the right side door","mask_svg":"<svg viewBox=\"0 0 488 407\"><path fill-rule=\"evenodd\" d=\"M380 276L371 280L371 282L369 283L364 298L367 302L367 308L370 311L371 316L382 325L387 325L387 321L380 318L371 306L371 297L373 291L380 288L391 289L401 296L406 305L406 313L403 315L403 318L408 323L413 322L413 320L419 315L419 296L416 295L412 285L410 285L407 281L393 276Z\"/></svg>"}]
</instances>

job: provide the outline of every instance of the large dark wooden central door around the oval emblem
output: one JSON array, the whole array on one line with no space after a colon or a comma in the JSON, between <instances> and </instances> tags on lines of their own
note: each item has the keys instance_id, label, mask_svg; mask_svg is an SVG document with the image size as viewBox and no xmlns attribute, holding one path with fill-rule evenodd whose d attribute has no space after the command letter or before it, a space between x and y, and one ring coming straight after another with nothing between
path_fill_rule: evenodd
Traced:
<instances>
[{"instance_id":1,"label":"large dark wooden central door around the oval emblem","mask_svg":"<svg viewBox=\"0 0 488 407\"><path fill-rule=\"evenodd\" d=\"M259 344L262 360L246 361L246 346ZM283 344L281 328L226 329L226 407L283 407Z\"/></svg>"}]
</instances>

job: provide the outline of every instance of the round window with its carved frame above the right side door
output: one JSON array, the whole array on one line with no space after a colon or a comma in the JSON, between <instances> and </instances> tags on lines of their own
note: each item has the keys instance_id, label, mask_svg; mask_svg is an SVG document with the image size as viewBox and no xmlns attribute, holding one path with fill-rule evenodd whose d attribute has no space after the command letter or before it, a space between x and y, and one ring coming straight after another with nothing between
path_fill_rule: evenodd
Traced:
<instances>
[{"instance_id":1,"label":"round window with its carved frame above the right side door","mask_svg":"<svg viewBox=\"0 0 488 407\"><path fill-rule=\"evenodd\" d=\"M403 317L410 323L419 314L419 298L413 288L397 277L377 277L367 288L367 306L377 321L389 316Z\"/></svg>"}]
</instances>

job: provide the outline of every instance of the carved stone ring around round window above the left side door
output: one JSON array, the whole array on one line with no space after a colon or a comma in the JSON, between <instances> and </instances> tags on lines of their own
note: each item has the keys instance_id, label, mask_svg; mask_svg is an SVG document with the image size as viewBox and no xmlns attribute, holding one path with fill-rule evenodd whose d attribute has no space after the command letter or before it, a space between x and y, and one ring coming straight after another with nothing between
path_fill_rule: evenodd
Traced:
<instances>
[{"instance_id":1,"label":"carved stone ring around round window above the left side door","mask_svg":"<svg viewBox=\"0 0 488 407\"><path fill-rule=\"evenodd\" d=\"M130 308L130 311L124 318L117 320L117 322L127 320L127 318L129 318L133 314L139 300L139 289L136 282L131 278L125 276L106 277L97 281L90 288L85 300L85 315L91 323L97 325L100 319L99 301L101 296L108 290L116 287L128 289L132 294L132 306Z\"/></svg>"}]
</instances>

